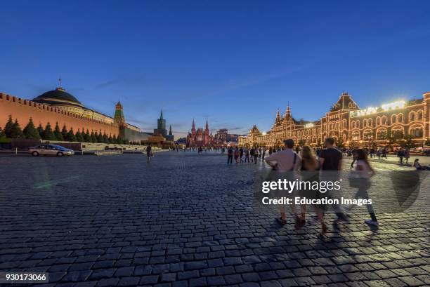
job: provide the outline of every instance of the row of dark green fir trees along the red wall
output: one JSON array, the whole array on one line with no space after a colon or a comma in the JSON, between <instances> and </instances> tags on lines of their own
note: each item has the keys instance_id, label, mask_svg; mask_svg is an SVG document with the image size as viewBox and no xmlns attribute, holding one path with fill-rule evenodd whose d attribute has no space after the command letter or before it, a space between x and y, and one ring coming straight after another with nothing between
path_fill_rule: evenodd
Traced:
<instances>
[{"instance_id":1,"label":"row of dark green fir trees along the red wall","mask_svg":"<svg viewBox=\"0 0 430 287\"><path fill-rule=\"evenodd\" d=\"M127 140L122 140L121 138L117 138L116 135L112 137L112 135L106 135L106 133L91 131L87 129L84 132L84 129L80 131L79 129L76 133L73 131L73 128L67 131L66 126L64 125L62 129L58 126L58 122L56 126L52 128L51 124L47 123L45 127L41 124L36 128L34 126L32 118L28 121L27 126L24 129L21 129L20 124L18 123L18 119L15 121L12 120L12 116L9 116L8 121L6 122L6 126L4 129L0 127L0 138L29 138L34 140L59 140L59 141L68 141L68 142L100 142L100 143L116 143L116 144L125 144L129 143Z\"/></svg>"}]
</instances>

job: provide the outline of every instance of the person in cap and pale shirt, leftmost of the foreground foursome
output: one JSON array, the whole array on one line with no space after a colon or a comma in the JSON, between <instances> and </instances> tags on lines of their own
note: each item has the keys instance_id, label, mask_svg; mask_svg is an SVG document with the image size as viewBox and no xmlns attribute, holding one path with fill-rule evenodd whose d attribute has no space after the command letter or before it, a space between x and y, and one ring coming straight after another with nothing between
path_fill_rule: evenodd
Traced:
<instances>
[{"instance_id":1,"label":"person in cap and pale shirt, leftmost of the foreground foursome","mask_svg":"<svg viewBox=\"0 0 430 287\"><path fill-rule=\"evenodd\" d=\"M278 176L287 177L288 180L293 180L294 171L298 171L300 168L300 156L293 151L294 148L294 140L288 139L284 141L285 149L271 154L266 157L265 161L271 166L273 169L278 171ZM282 194L280 194L282 195ZM281 197L281 196L278 196ZM294 202L294 201L293 201ZM287 223L287 215L285 215L285 205L280 204L280 217L276 218L281 225L285 225ZM294 204L291 206L292 213L297 220L297 213L294 207Z\"/></svg>"}]
</instances>

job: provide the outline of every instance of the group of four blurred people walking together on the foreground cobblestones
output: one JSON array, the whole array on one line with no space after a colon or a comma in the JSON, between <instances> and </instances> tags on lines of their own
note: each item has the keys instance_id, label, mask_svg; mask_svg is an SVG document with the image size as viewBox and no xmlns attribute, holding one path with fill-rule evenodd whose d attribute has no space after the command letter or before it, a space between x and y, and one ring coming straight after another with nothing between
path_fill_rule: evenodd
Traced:
<instances>
[{"instance_id":1,"label":"group of four blurred people walking together on the foreground cobblestones","mask_svg":"<svg viewBox=\"0 0 430 287\"><path fill-rule=\"evenodd\" d=\"M337 149L334 145L334 138L327 138L324 142L325 149L321 149L319 156L317 156L314 150L309 146L304 146L301 149L300 154L294 152L294 140L285 140L285 149L275 152L270 156L266 157L266 163L268 163L275 171L282 174L291 174L288 171L315 171L311 173L311 178L306 180L339 180L342 168L342 152ZM323 171L320 173L320 171ZM326 173L324 173L327 171ZM362 179L364 184L360 185L356 193L356 199L368 199L367 189L370 187L370 178L374 175L374 170L367 161L367 153L364 149L356 150L356 168L355 173L358 178ZM291 179L290 179L291 180ZM317 192L316 196L320 196L320 192ZM325 196L330 196L325 194ZM301 228L306 224L306 206L300 206L300 213L296 211L296 206L292 206L292 213L294 215L295 227ZM379 222L372 209L372 206L367 204L367 210L370 213L370 220L365 220L368 225L378 226ZM325 223L324 215L326 208L325 206L315 206L315 211L318 215L318 220L321 225L320 234L327 232L327 225ZM335 206L335 213L337 219L334 220L334 225L340 222L348 222L348 216L341 211L339 205ZM280 205L280 217L276 218L281 225L287 223L285 206Z\"/></svg>"}]
</instances>

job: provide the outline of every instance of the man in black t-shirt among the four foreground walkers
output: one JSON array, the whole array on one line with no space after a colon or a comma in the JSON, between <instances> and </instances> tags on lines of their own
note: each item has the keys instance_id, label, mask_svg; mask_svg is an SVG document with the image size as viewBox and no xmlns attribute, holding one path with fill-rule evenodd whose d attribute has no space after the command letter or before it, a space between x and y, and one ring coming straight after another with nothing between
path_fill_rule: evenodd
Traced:
<instances>
[{"instance_id":1,"label":"man in black t-shirt among the four foreground walkers","mask_svg":"<svg viewBox=\"0 0 430 287\"><path fill-rule=\"evenodd\" d=\"M325 149L320 154L320 179L327 182L339 181L340 171L342 169L342 153L334 146L334 138L326 138L324 145ZM327 194L328 197L333 197L332 194ZM339 206L334 206L337 219L333 225L339 222L348 222L348 218L341 211Z\"/></svg>"}]
</instances>

